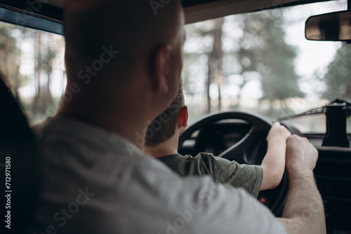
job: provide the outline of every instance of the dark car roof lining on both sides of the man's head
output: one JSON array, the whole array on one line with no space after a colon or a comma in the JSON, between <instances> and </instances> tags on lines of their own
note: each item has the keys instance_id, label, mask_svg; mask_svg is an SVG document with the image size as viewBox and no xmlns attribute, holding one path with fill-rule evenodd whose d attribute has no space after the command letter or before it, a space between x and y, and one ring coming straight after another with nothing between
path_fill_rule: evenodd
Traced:
<instances>
[{"instance_id":1,"label":"dark car roof lining on both sides of the man's head","mask_svg":"<svg viewBox=\"0 0 351 234\"><path fill-rule=\"evenodd\" d=\"M185 23L220 18L237 13L262 11L321 0L182 0L185 9ZM333 1L333 0L326 0ZM2 0L0 20L15 25L39 29L45 32L63 34L63 0ZM274 3L277 3L274 5ZM13 17L13 11L15 14ZM12 13L12 17L11 17ZM22 18L20 17L22 15Z\"/></svg>"}]
</instances>

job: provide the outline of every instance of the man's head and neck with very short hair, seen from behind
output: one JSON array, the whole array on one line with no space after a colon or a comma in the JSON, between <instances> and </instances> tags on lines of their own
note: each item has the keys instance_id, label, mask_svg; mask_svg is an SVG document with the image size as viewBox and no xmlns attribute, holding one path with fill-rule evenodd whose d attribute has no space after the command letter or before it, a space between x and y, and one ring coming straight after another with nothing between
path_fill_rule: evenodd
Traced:
<instances>
[{"instance_id":1,"label":"man's head and neck with very short hair, seen from behind","mask_svg":"<svg viewBox=\"0 0 351 234\"><path fill-rule=\"evenodd\" d=\"M133 142L176 96L183 25L180 0L67 0L67 86L58 115Z\"/></svg>"}]
</instances>

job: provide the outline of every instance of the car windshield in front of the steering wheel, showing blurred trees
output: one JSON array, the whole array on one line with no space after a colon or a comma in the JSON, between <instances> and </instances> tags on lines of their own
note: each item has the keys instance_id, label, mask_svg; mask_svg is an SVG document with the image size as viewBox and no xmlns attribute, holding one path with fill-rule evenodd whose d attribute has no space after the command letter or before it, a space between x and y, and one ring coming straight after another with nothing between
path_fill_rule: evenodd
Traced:
<instances>
[{"instance_id":1,"label":"car windshield in front of the steering wheel, showing blurred trees","mask_svg":"<svg viewBox=\"0 0 351 234\"><path fill-rule=\"evenodd\" d=\"M350 100L351 46L305 39L307 18L346 8L347 1L328 1L187 25L183 83L190 123L225 110L276 121L336 98ZM326 131L324 115L287 122L305 133Z\"/></svg>"}]
</instances>

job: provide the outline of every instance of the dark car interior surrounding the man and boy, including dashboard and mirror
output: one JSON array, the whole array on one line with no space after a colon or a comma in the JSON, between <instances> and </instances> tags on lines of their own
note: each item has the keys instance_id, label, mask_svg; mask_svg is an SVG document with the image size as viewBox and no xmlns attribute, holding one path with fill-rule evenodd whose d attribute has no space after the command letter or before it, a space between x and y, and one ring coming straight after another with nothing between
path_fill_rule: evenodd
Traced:
<instances>
[{"instance_id":1,"label":"dark car interior surrounding the man and boy, including dashboard and mirror","mask_svg":"<svg viewBox=\"0 0 351 234\"><path fill-rule=\"evenodd\" d=\"M0 3L0 21L27 29L35 29L50 34L63 35L62 0L3 0ZM227 15L240 15L267 11L289 6L303 6L319 0L183 0L186 24L222 18ZM351 41L351 1L347 10L314 15L307 19L305 37L308 40ZM1 69L1 67L0 67ZM350 77L351 80L351 77ZM9 90L6 81L0 82L0 174L10 177L7 170L11 160L11 188L1 191L1 205L6 204L6 194L12 193L11 212L14 233L25 229L30 214L35 209L39 192L39 154L29 121ZM351 103L347 99L335 99L318 108L279 118L293 134L307 137L319 151L319 159L314 169L317 186L322 195L327 233L351 233L351 132L347 118L351 116ZM325 116L325 132L303 132L293 123L292 118L302 116ZM349 118L350 119L350 118ZM196 155L211 152L215 156L236 160L238 163L260 165L267 151L265 137L272 121L251 111L218 111L197 119L180 135L178 151L181 154ZM15 168L20 168L15 170ZM10 169L10 168L8 168ZM8 174L6 174L8 173ZM8 191L8 192L6 192ZM289 178L284 174L281 184L272 190L262 191L258 200L271 209L274 215L281 216L286 195L289 192ZM23 195L25 194L25 195ZM1 215L6 216L3 208Z\"/></svg>"}]
</instances>

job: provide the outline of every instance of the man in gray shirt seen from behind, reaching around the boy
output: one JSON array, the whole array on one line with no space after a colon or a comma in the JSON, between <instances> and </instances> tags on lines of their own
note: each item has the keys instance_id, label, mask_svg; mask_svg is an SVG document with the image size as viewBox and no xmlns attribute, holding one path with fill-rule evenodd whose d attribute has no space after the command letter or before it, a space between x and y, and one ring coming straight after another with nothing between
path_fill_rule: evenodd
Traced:
<instances>
[{"instance_id":1,"label":"man in gray shirt seen from behind, reaching around the boy","mask_svg":"<svg viewBox=\"0 0 351 234\"><path fill-rule=\"evenodd\" d=\"M243 189L182 179L140 151L180 84L183 8L161 2L155 13L150 1L66 1L67 88L58 113L35 129L42 177L32 233L325 232L317 151L304 139L287 142L280 221Z\"/></svg>"}]
</instances>

